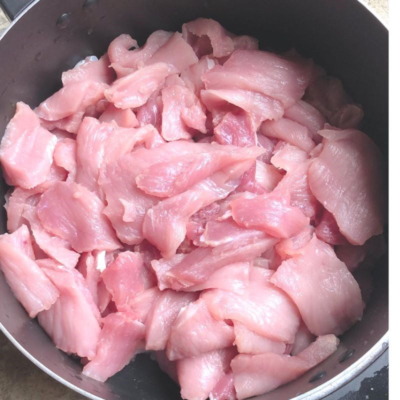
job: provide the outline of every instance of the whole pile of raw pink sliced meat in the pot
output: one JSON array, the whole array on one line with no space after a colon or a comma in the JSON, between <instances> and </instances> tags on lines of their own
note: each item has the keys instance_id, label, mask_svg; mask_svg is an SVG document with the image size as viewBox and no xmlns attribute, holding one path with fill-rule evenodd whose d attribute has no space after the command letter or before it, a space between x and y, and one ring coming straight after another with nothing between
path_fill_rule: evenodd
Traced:
<instances>
[{"instance_id":1,"label":"whole pile of raw pink sliced meat in the pot","mask_svg":"<svg viewBox=\"0 0 400 400\"><path fill-rule=\"evenodd\" d=\"M211 19L127 34L1 141L0 266L100 381L151 351L188 400L295 379L362 317L381 159L338 79Z\"/></svg>"}]
</instances>

